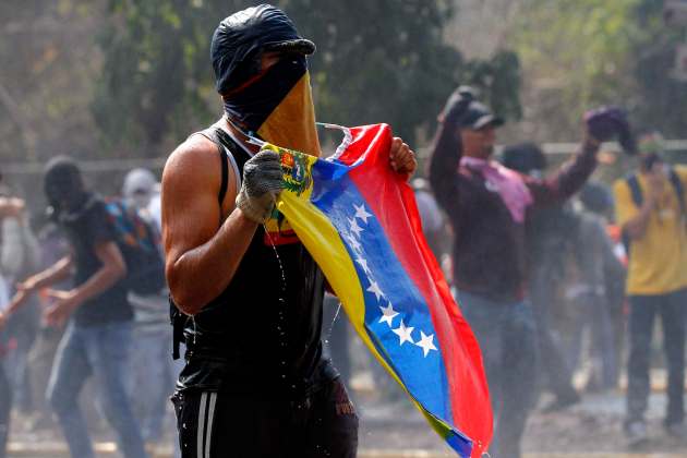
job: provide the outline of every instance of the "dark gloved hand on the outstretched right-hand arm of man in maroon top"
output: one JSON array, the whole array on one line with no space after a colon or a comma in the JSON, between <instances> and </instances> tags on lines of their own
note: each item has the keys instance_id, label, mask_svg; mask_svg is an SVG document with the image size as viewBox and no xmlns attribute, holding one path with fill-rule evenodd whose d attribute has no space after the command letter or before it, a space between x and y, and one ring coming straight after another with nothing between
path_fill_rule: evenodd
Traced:
<instances>
[{"instance_id":1,"label":"dark gloved hand on the outstretched right-hand arm of man in maroon top","mask_svg":"<svg viewBox=\"0 0 687 458\"><path fill-rule=\"evenodd\" d=\"M635 136L625 110L617 107L601 107L589 110L584 113L584 123L587 135L591 137L592 142L607 142L617 137L625 153L637 153Z\"/></svg>"}]
</instances>

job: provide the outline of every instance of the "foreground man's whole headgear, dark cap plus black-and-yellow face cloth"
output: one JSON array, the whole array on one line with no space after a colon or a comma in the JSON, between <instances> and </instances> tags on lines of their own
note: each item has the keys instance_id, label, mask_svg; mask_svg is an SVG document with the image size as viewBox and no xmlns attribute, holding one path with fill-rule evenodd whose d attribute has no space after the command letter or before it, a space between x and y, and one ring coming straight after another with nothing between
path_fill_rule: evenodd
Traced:
<instances>
[{"instance_id":1,"label":"foreground man's whole headgear, dark cap plus black-and-yellow face cloth","mask_svg":"<svg viewBox=\"0 0 687 458\"><path fill-rule=\"evenodd\" d=\"M262 71L265 51L278 51L280 59ZM314 51L315 45L269 4L225 19L213 35L210 59L227 118L249 135L320 156L305 60Z\"/></svg>"}]
</instances>

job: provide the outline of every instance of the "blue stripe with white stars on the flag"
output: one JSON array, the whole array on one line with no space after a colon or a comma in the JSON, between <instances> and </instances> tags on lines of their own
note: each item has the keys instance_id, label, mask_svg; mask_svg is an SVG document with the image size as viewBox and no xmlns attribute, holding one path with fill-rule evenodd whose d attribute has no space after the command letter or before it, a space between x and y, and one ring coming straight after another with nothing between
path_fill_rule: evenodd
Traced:
<instances>
[{"instance_id":1,"label":"blue stripe with white stars on the flag","mask_svg":"<svg viewBox=\"0 0 687 458\"><path fill-rule=\"evenodd\" d=\"M355 265L372 340L413 397L453 424L446 369L429 306L355 185L341 177L347 169L336 162L315 162L311 202L339 231ZM332 180L334 176L340 178Z\"/></svg>"}]
</instances>

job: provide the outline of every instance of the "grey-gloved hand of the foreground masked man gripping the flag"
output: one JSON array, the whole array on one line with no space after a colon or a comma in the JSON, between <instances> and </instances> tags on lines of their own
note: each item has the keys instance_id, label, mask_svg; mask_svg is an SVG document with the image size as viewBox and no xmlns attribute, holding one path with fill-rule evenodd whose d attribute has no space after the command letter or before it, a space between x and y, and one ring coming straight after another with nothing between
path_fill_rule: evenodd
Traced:
<instances>
[{"instance_id":1,"label":"grey-gloved hand of the foreground masked man gripping the flag","mask_svg":"<svg viewBox=\"0 0 687 458\"><path fill-rule=\"evenodd\" d=\"M262 150L245 162L237 195L237 207L243 215L261 225L269 218L284 188L281 174L281 161L274 152Z\"/></svg>"}]
</instances>

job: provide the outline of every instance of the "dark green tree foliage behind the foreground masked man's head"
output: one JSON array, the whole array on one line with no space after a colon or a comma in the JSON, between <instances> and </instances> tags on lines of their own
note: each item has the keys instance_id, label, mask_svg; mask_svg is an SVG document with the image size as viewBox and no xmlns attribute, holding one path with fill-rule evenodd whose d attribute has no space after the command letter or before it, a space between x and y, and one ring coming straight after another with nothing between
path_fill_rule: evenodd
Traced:
<instances>
[{"instance_id":1,"label":"dark green tree foliage behind the foreground masked man's head","mask_svg":"<svg viewBox=\"0 0 687 458\"><path fill-rule=\"evenodd\" d=\"M93 104L110 147L124 143L161 155L166 140L177 142L217 116L209 38L219 20L246 3L110 0L112 17L100 37L105 64ZM310 63L321 120L388 122L412 141L461 82L483 87L503 114L520 113L517 58L503 52L465 62L442 39L453 13L447 1L278 4L317 45Z\"/></svg>"}]
</instances>

